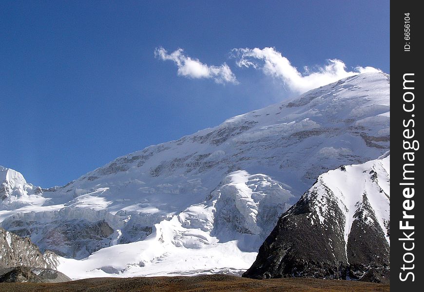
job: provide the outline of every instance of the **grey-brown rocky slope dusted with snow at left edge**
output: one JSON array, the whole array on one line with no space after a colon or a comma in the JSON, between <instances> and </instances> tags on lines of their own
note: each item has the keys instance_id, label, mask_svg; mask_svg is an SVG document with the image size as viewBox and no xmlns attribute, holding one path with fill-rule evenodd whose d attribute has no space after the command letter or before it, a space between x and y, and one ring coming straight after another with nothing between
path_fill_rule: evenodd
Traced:
<instances>
[{"instance_id":1,"label":"grey-brown rocky slope dusted with snow at left edge","mask_svg":"<svg viewBox=\"0 0 424 292\"><path fill-rule=\"evenodd\" d=\"M37 245L28 237L22 238L0 228L0 267L55 269L56 257L52 252L41 254Z\"/></svg>"}]
</instances>

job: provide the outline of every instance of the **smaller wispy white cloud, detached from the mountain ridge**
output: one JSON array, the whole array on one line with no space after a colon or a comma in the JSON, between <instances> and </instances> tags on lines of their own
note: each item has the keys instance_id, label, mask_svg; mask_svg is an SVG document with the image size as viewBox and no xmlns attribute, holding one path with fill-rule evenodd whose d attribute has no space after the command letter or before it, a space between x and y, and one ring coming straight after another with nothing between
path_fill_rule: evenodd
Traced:
<instances>
[{"instance_id":1,"label":"smaller wispy white cloud, detached from the mountain ridge","mask_svg":"<svg viewBox=\"0 0 424 292\"><path fill-rule=\"evenodd\" d=\"M162 48L154 50L154 56L166 61L171 60L178 67L178 75L190 78L212 78L216 83L233 83L238 84L235 75L231 72L230 67L226 63L221 66L208 66L198 59L192 59L184 55L183 49L178 49L171 54Z\"/></svg>"}]
</instances>

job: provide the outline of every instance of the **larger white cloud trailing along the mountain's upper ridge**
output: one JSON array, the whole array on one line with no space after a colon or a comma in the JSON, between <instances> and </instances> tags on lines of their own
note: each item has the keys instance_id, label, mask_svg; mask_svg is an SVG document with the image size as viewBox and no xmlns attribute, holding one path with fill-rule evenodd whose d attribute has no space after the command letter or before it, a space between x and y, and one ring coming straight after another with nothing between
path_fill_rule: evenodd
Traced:
<instances>
[{"instance_id":1,"label":"larger white cloud trailing along the mountain's upper ridge","mask_svg":"<svg viewBox=\"0 0 424 292\"><path fill-rule=\"evenodd\" d=\"M353 72L346 71L343 61L329 59L326 66L315 68L314 71L305 67L302 74L274 48L232 49L232 53L237 58L237 66L261 69L265 74L281 79L290 91L300 93L359 73L381 72L373 67L356 67Z\"/></svg>"}]
</instances>

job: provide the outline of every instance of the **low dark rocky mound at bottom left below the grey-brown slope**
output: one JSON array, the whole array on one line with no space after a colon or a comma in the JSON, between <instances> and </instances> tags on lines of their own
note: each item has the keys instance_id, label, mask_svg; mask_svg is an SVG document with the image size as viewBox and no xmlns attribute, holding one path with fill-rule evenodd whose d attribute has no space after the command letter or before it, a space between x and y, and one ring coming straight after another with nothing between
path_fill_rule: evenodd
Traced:
<instances>
[{"instance_id":1,"label":"low dark rocky mound at bottom left below the grey-brown slope","mask_svg":"<svg viewBox=\"0 0 424 292\"><path fill-rule=\"evenodd\" d=\"M4 282L33 282L59 283L71 281L71 278L52 269L14 267L0 268L0 283Z\"/></svg>"}]
</instances>

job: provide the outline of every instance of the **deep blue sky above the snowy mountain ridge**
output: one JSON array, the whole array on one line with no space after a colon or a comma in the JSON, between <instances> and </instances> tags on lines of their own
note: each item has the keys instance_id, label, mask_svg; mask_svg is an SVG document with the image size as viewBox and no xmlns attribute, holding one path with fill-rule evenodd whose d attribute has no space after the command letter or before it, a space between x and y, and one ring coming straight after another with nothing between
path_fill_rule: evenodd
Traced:
<instances>
[{"instance_id":1,"label":"deep blue sky above the snowy mountain ridge","mask_svg":"<svg viewBox=\"0 0 424 292\"><path fill-rule=\"evenodd\" d=\"M0 37L0 164L43 187L315 84L281 64L390 73L382 0L1 1Z\"/></svg>"}]
</instances>

